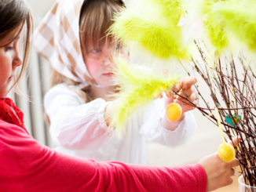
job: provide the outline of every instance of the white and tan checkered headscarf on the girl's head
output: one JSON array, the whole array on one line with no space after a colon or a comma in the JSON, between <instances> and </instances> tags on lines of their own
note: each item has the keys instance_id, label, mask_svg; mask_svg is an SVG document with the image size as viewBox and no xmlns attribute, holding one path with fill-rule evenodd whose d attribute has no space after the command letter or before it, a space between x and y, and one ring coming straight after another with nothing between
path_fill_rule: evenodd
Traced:
<instances>
[{"instance_id":1,"label":"white and tan checkered headscarf on the girl's head","mask_svg":"<svg viewBox=\"0 0 256 192\"><path fill-rule=\"evenodd\" d=\"M93 81L80 46L82 3L83 0L57 0L35 31L34 45L60 74L86 86Z\"/></svg>"}]
</instances>

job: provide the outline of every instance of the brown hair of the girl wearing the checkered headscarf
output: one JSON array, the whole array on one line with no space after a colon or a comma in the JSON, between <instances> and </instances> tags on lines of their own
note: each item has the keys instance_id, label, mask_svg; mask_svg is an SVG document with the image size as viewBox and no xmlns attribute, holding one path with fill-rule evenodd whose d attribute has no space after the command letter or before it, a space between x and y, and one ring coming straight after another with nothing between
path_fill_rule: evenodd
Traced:
<instances>
[{"instance_id":1,"label":"brown hair of the girl wearing the checkered headscarf","mask_svg":"<svg viewBox=\"0 0 256 192\"><path fill-rule=\"evenodd\" d=\"M86 49L87 39L93 39L93 45L98 43L104 45L104 41L107 39L108 28L113 24L113 17L123 6L124 3L121 0L84 0L79 19L81 49ZM112 37L108 36L109 38ZM82 44L85 46L82 46ZM78 82L74 82L53 70L52 86L60 83L79 85ZM75 89L75 86L72 87L83 100L86 102L91 100L90 86L83 89Z\"/></svg>"}]
</instances>

